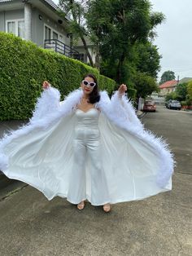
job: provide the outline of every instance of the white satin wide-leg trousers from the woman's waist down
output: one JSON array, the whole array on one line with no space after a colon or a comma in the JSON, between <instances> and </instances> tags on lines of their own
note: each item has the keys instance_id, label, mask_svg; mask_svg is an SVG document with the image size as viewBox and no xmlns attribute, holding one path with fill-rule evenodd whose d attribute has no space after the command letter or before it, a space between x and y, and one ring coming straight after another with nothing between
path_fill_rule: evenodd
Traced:
<instances>
[{"instance_id":1,"label":"white satin wide-leg trousers from the woman's waist down","mask_svg":"<svg viewBox=\"0 0 192 256\"><path fill-rule=\"evenodd\" d=\"M67 200L73 204L88 199L92 205L110 202L107 179L102 168L98 130L76 130L73 139L74 162ZM90 195L86 192L85 162L89 157Z\"/></svg>"}]
</instances>

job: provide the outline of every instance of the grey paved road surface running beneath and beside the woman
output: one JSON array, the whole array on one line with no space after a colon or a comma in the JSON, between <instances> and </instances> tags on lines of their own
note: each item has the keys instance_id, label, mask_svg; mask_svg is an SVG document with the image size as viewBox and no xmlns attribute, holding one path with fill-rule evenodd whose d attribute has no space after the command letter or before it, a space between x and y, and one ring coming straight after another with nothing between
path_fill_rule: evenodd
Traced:
<instances>
[{"instance_id":1,"label":"grey paved road surface running beneath and beside the woman","mask_svg":"<svg viewBox=\"0 0 192 256\"><path fill-rule=\"evenodd\" d=\"M142 121L175 153L171 192L112 205L105 214L89 203L79 211L63 198L47 201L35 188L20 188L0 201L0 256L192 255L192 115L157 110Z\"/></svg>"}]
</instances>

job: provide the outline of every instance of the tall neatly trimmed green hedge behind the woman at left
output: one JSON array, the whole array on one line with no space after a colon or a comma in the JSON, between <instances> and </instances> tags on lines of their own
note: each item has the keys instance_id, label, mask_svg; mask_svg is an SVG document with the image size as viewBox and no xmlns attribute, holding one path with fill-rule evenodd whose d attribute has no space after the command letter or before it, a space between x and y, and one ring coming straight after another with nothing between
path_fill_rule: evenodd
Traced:
<instances>
[{"instance_id":1,"label":"tall neatly trimmed green hedge behind the woman at left","mask_svg":"<svg viewBox=\"0 0 192 256\"><path fill-rule=\"evenodd\" d=\"M45 50L12 34L0 33L0 120L32 116L44 80L64 95L80 86L85 73L94 73L99 88L109 94L116 82L78 60Z\"/></svg>"}]
</instances>

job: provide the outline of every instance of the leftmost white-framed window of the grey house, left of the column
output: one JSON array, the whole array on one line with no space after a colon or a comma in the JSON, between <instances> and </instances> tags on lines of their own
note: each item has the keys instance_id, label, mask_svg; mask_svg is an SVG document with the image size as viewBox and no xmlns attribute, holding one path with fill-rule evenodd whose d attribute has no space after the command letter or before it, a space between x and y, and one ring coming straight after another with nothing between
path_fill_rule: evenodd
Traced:
<instances>
[{"instance_id":1,"label":"leftmost white-framed window of the grey house, left of the column","mask_svg":"<svg viewBox=\"0 0 192 256\"><path fill-rule=\"evenodd\" d=\"M24 38L24 20L7 20L6 32Z\"/></svg>"}]
</instances>

